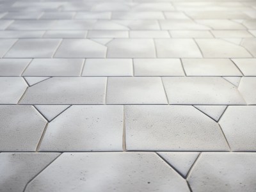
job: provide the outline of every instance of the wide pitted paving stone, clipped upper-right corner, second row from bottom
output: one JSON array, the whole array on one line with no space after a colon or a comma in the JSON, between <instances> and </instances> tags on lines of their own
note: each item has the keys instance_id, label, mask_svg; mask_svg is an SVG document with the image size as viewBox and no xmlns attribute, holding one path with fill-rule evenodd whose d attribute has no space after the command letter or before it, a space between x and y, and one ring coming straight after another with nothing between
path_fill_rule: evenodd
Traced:
<instances>
[{"instance_id":1,"label":"wide pitted paving stone, clipped upper-right corner, second row from bottom","mask_svg":"<svg viewBox=\"0 0 256 192\"><path fill-rule=\"evenodd\" d=\"M127 150L228 150L220 126L193 106L125 106Z\"/></svg>"}]
</instances>

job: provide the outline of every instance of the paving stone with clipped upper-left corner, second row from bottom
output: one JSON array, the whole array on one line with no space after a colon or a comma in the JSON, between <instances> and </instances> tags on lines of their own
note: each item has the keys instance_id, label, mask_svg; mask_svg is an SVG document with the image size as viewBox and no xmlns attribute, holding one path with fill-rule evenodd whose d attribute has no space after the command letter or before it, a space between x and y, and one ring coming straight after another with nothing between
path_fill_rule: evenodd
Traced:
<instances>
[{"instance_id":1,"label":"paving stone with clipped upper-left corner, second row from bottom","mask_svg":"<svg viewBox=\"0 0 256 192\"><path fill-rule=\"evenodd\" d=\"M72 106L52 120L41 151L122 151L123 106Z\"/></svg>"}]
</instances>

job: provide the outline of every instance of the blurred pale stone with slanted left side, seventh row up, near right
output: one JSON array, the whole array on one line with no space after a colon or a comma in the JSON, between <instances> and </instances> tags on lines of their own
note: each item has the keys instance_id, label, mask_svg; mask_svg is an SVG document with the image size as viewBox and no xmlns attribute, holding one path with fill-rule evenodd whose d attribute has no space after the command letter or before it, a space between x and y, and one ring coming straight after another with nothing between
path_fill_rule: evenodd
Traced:
<instances>
[{"instance_id":1,"label":"blurred pale stone with slanted left side, seventh row up, near right","mask_svg":"<svg viewBox=\"0 0 256 192\"><path fill-rule=\"evenodd\" d=\"M234 22L232 20L224 20L224 19L202 19L196 20L199 24L204 24L205 26L209 26L213 29L246 29L243 25Z\"/></svg>"}]
</instances>

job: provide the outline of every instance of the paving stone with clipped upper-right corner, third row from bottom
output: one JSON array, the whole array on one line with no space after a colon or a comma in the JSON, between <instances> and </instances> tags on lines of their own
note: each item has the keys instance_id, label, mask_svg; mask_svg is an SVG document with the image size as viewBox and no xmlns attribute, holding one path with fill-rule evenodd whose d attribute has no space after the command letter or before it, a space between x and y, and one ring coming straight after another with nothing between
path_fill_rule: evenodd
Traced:
<instances>
[{"instance_id":1,"label":"paving stone with clipped upper-right corner, third row from bottom","mask_svg":"<svg viewBox=\"0 0 256 192\"><path fill-rule=\"evenodd\" d=\"M236 86L221 77L163 77L170 104L245 104Z\"/></svg>"}]
</instances>

